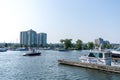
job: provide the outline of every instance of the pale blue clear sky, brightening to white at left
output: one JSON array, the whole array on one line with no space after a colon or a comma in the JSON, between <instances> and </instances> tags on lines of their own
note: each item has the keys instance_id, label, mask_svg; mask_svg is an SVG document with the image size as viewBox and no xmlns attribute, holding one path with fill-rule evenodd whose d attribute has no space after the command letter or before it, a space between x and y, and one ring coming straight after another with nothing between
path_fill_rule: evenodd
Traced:
<instances>
[{"instance_id":1,"label":"pale blue clear sky, brightening to white at left","mask_svg":"<svg viewBox=\"0 0 120 80\"><path fill-rule=\"evenodd\" d=\"M29 29L47 33L48 43L120 43L120 0L0 0L0 42L19 42Z\"/></svg>"}]
</instances>

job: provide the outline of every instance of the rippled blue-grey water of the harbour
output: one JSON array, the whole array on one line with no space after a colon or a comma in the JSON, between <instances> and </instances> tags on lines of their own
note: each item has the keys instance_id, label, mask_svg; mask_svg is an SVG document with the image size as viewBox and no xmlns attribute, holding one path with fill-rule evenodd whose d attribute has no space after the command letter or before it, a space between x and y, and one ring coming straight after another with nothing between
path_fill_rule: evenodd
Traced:
<instances>
[{"instance_id":1,"label":"rippled blue-grey water of the harbour","mask_svg":"<svg viewBox=\"0 0 120 80\"><path fill-rule=\"evenodd\" d=\"M120 74L60 65L58 59L78 61L87 51L43 50L41 56L22 56L23 52L0 52L0 80L119 80Z\"/></svg>"}]
</instances>

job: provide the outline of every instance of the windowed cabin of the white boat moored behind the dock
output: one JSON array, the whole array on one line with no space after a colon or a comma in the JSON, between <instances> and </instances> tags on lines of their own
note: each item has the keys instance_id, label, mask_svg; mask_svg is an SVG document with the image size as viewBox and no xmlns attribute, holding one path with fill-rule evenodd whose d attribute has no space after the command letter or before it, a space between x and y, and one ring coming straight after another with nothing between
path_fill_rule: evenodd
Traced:
<instances>
[{"instance_id":1,"label":"windowed cabin of the white boat moored behind the dock","mask_svg":"<svg viewBox=\"0 0 120 80\"><path fill-rule=\"evenodd\" d=\"M110 51L91 51L88 54L89 62L103 65L111 65L112 57Z\"/></svg>"}]
</instances>

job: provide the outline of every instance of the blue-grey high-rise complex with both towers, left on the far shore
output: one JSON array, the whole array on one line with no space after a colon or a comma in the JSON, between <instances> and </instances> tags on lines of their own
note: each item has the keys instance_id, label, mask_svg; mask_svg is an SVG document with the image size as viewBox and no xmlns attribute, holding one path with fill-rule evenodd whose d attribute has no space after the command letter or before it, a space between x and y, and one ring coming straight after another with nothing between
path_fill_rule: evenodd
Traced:
<instances>
[{"instance_id":1,"label":"blue-grey high-rise complex with both towers, left on the far shore","mask_svg":"<svg viewBox=\"0 0 120 80\"><path fill-rule=\"evenodd\" d=\"M47 45L47 34L39 33L37 34L34 30L30 29L28 31L20 32L20 44L26 46L41 46L45 47Z\"/></svg>"}]
</instances>

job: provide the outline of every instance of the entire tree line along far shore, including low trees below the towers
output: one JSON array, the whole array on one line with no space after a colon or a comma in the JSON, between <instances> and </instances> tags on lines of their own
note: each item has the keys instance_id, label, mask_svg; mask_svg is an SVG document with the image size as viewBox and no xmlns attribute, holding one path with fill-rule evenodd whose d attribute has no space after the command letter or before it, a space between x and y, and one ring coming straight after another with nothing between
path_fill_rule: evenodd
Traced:
<instances>
[{"instance_id":1,"label":"entire tree line along far shore, including low trees below the towers","mask_svg":"<svg viewBox=\"0 0 120 80\"><path fill-rule=\"evenodd\" d=\"M61 39L60 40L61 45L56 46L57 48L63 48L66 50L89 50L89 49L95 49L96 47L99 47L99 44L95 44L94 42L88 42L88 43L83 43L82 40L78 39L75 43L72 43L72 39ZM12 44L8 44L8 43L4 43L3 45L4 47L50 47L51 49L54 49L56 47L51 46L50 44L47 44L46 46L42 46L42 45L22 45L22 44L14 44L14 46ZM53 48L52 48L53 47ZM102 49L110 49L112 48L111 44L103 44L102 45Z\"/></svg>"}]
</instances>

